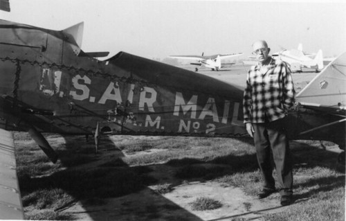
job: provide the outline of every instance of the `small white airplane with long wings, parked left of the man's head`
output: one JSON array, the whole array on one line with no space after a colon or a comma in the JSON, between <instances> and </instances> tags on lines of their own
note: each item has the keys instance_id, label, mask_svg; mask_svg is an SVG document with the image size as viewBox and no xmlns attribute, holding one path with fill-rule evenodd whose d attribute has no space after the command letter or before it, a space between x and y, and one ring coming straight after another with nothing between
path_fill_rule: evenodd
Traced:
<instances>
[{"instance_id":1,"label":"small white airplane with long wings, parked left of the man's head","mask_svg":"<svg viewBox=\"0 0 346 221\"><path fill-rule=\"evenodd\" d=\"M233 54L227 54L227 55L210 55L210 56L203 56L204 53L202 53L201 56L199 55L170 55L170 58L179 58L179 59L185 59L185 60L197 60L197 63L190 63L193 65L197 65L195 71L198 71L202 66L212 69L212 71L219 71L222 67L225 67L225 65L231 65L235 63L221 63L221 59L224 58L232 58L242 55L243 53L233 53Z\"/></svg>"}]
</instances>

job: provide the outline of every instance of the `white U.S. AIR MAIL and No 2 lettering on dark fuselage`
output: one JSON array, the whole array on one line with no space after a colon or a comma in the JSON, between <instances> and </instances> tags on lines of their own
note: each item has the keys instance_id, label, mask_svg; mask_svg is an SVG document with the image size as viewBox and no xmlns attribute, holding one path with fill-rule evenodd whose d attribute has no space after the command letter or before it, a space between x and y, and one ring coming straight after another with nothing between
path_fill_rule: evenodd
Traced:
<instances>
[{"instance_id":1,"label":"white U.S. AIR MAIL and No 2 lettering on dark fuselage","mask_svg":"<svg viewBox=\"0 0 346 221\"><path fill-rule=\"evenodd\" d=\"M61 83L62 71L53 72L44 69L40 90L50 96L58 93L62 98L62 95L66 94L73 100L112 108L129 103L132 114L138 120L136 126L149 127L153 130L169 128L179 133L210 134L218 127L225 127L222 125L243 125L238 116L240 104L224 98L170 91L161 87L143 87L100 78L93 79L80 74L69 79L71 87L66 89ZM165 99L162 99L163 97ZM105 112L107 113L107 110Z\"/></svg>"}]
</instances>

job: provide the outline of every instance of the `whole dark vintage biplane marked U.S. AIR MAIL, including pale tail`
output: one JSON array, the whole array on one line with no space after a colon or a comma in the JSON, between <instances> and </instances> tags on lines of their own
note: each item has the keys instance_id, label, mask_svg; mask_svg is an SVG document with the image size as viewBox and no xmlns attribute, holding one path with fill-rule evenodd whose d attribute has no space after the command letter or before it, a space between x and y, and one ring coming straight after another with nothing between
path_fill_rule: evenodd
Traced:
<instances>
[{"instance_id":1,"label":"whole dark vintage biplane marked U.S. AIR MAIL, including pale tail","mask_svg":"<svg viewBox=\"0 0 346 221\"><path fill-rule=\"evenodd\" d=\"M120 52L87 53L83 23L48 30L0 20L1 218L21 218L13 138L28 131L53 161L42 132L246 136L243 88ZM310 82L289 113L292 139L345 149L346 53ZM5 163L6 161L6 163Z\"/></svg>"}]
</instances>

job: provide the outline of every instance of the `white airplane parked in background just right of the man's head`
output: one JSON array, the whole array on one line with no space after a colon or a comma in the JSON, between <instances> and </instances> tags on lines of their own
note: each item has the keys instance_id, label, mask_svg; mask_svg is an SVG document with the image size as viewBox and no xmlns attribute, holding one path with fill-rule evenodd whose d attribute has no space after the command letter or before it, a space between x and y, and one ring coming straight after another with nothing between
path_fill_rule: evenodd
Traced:
<instances>
[{"instance_id":1,"label":"white airplane parked in background just right of the man's head","mask_svg":"<svg viewBox=\"0 0 346 221\"><path fill-rule=\"evenodd\" d=\"M302 67L315 69L319 72L323 69L323 55L322 50L319 50L315 58L310 58L311 54L306 54L302 51L302 44L299 44L298 49L283 50L273 53L274 59L282 60L288 63L293 72L302 72Z\"/></svg>"}]
</instances>

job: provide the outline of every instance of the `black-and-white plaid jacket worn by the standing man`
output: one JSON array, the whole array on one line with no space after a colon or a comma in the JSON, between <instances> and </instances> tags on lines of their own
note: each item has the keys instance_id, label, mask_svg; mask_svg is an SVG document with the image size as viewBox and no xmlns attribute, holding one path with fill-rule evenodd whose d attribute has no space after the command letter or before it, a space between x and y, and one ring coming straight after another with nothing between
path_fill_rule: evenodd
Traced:
<instances>
[{"instance_id":1,"label":"black-and-white plaid jacket worn by the standing man","mask_svg":"<svg viewBox=\"0 0 346 221\"><path fill-rule=\"evenodd\" d=\"M284 118L294 104L291 70L282 61L255 65L248 71L244 91L244 123L264 123Z\"/></svg>"}]
</instances>

